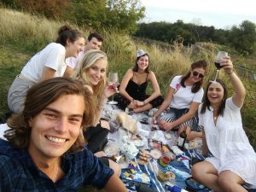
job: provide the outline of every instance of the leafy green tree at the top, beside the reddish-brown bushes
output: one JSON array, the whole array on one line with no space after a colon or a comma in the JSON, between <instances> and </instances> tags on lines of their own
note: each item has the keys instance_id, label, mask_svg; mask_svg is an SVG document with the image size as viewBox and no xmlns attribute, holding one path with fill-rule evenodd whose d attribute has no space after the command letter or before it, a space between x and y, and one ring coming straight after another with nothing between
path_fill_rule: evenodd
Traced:
<instances>
[{"instance_id":1,"label":"leafy green tree at the top, beside the reddish-brown bushes","mask_svg":"<svg viewBox=\"0 0 256 192\"><path fill-rule=\"evenodd\" d=\"M137 0L73 0L67 19L96 30L103 27L132 33L144 16L145 7Z\"/></svg>"}]
</instances>

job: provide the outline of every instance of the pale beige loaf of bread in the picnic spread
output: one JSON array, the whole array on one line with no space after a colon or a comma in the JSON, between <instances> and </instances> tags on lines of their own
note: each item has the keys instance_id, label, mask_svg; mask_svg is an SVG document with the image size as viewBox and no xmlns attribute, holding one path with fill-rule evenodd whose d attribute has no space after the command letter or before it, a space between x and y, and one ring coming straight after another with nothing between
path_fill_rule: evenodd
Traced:
<instances>
[{"instance_id":1,"label":"pale beige loaf of bread in the picnic spread","mask_svg":"<svg viewBox=\"0 0 256 192\"><path fill-rule=\"evenodd\" d=\"M126 114L125 112L120 112L117 114L117 121L125 130L128 130L132 133L137 131L136 120L132 119L131 115Z\"/></svg>"}]
</instances>

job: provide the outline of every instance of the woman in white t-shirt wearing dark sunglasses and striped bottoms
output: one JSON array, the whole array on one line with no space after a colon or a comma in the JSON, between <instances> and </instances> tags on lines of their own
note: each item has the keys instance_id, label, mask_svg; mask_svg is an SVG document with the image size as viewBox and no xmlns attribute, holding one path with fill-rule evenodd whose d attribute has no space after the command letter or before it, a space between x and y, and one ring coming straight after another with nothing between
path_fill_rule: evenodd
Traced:
<instances>
[{"instance_id":1,"label":"woman in white t-shirt wearing dark sunglasses and striped bottoms","mask_svg":"<svg viewBox=\"0 0 256 192\"><path fill-rule=\"evenodd\" d=\"M153 122L164 130L178 129L178 134L186 130L187 140L201 137L201 126L198 126L197 109L201 103L203 77L207 62L196 61L191 64L189 72L172 79L165 101L154 113ZM170 108L170 109L167 109ZM167 109L167 112L160 116Z\"/></svg>"}]
</instances>

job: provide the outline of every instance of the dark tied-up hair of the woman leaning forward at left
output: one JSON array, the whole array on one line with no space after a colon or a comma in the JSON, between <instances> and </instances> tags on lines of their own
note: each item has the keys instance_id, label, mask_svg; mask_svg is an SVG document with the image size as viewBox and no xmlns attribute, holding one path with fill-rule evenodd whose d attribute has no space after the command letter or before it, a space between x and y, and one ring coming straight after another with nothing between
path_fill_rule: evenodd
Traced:
<instances>
[{"instance_id":1,"label":"dark tied-up hair of the woman leaning forward at left","mask_svg":"<svg viewBox=\"0 0 256 192\"><path fill-rule=\"evenodd\" d=\"M62 44L64 47L67 44L67 40L70 40L72 43L78 38L84 38L83 33L79 30L73 29L71 26L65 25L61 26L58 32L59 36L56 39L55 43Z\"/></svg>"}]
</instances>

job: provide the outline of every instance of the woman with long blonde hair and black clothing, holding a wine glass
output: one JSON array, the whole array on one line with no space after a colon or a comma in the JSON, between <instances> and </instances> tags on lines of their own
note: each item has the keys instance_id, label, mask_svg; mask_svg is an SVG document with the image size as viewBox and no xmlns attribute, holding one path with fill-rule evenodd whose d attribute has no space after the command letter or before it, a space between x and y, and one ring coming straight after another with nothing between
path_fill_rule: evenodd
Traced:
<instances>
[{"instance_id":1,"label":"woman with long blonde hair and black clothing, holding a wine glass","mask_svg":"<svg viewBox=\"0 0 256 192\"><path fill-rule=\"evenodd\" d=\"M101 50L91 49L86 51L79 67L73 72L73 79L80 79L85 86L88 86L94 96L94 105L96 107L93 124L84 131L84 137L88 141L87 148L97 157L102 157L104 164L110 166L115 173L120 174L120 167L112 160L105 159L106 154L102 151L105 144L108 143L109 124L102 120L102 111L108 100L116 90L108 87L106 71L108 68L107 55Z\"/></svg>"}]
</instances>

